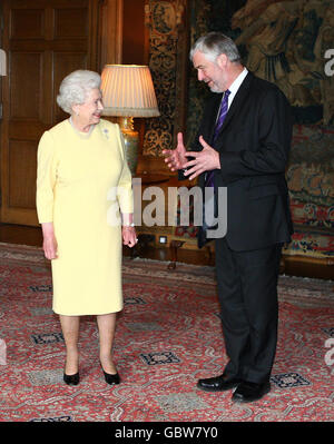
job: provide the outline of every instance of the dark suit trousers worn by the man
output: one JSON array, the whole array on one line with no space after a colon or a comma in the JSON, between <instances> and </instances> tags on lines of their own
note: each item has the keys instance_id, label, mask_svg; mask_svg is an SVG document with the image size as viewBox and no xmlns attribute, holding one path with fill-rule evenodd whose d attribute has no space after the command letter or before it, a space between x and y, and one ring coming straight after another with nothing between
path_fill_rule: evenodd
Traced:
<instances>
[{"instance_id":1,"label":"dark suit trousers worn by the man","mask_svg":"<svg viewBox=\"0 0 334 444\"><path fill-rule=\"evenodd\" d=\"M234 251L216 239L220 317L229 358L225 373L253 383L269 379L277 343L277 278L282 245Z\"/></svg>"}]
</instances>

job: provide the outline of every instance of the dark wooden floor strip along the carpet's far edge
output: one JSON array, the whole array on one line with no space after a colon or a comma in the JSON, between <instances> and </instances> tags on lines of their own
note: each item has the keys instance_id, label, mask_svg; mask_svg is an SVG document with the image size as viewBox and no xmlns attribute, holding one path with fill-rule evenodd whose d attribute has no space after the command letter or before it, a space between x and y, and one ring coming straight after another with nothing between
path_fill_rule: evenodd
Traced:
<instances>
[{"instance_id":1,"label":"dark wooden floor strip along the carpet's far edge","mask_svg":"<svg viewBox=\"0 0 334 444\"><path fill-rule=\"evenodd\" d=\"M19 245L42 246L42 234L40 227L27 227L21 225L0 224L0 241ZM143 258L171 260L169 248L166 247L140 247L131 250L124 247L124 255L134 255ZM177 260L186 264L210 265L215 263L214 256L209 258L203 250L185 249L178 250ZM316 277L321 279L334 279L334 266L318 264L305 264L288 260L284 273L291 276Z\"/></svg>"}]
</instances>

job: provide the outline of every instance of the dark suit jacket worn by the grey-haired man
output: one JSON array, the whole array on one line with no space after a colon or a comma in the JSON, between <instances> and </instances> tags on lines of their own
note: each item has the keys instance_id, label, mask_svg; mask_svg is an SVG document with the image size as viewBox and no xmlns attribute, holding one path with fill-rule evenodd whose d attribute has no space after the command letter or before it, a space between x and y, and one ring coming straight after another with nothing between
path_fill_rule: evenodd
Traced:
<instances>
[{"instance_id":1,"label":"dark suit jacket worn by the grey-haired man","mask_svg":"<svg viewBox=\"0 0 334 444\"><path fill-rule=\"evenodd\" d=\"M292 139L289 103L273 83L248 72L213 145L222 95L213 93L191 150L202 150L202 135L220 158L215 188L227 187L227 234L230 249L253 250L288 243L293 225L285 168ZM204 187L205 175L198 185ZM216 194L217 195L217 194ZM202 246L203 229L198 244Z\"/></svg>"}]
</instances>

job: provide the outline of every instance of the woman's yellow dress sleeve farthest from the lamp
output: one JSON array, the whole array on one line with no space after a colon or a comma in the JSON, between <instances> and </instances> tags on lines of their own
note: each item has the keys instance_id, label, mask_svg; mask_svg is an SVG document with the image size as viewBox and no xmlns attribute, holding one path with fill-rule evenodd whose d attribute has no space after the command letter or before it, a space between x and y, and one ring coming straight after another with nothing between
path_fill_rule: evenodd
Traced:
<instances>
[{"instance_id":1,"label":"woman's yellow dress sleeve farthest from the lamp","mask_svg":"<svg viewBox=\"0 0 334 444\"><path fill-rule=\"evenodd\" d=\"M46 131L38 145L36 206L40 224L53 221L53 189L57 177L55 144Z\"/></svg>"}]
</instances>

